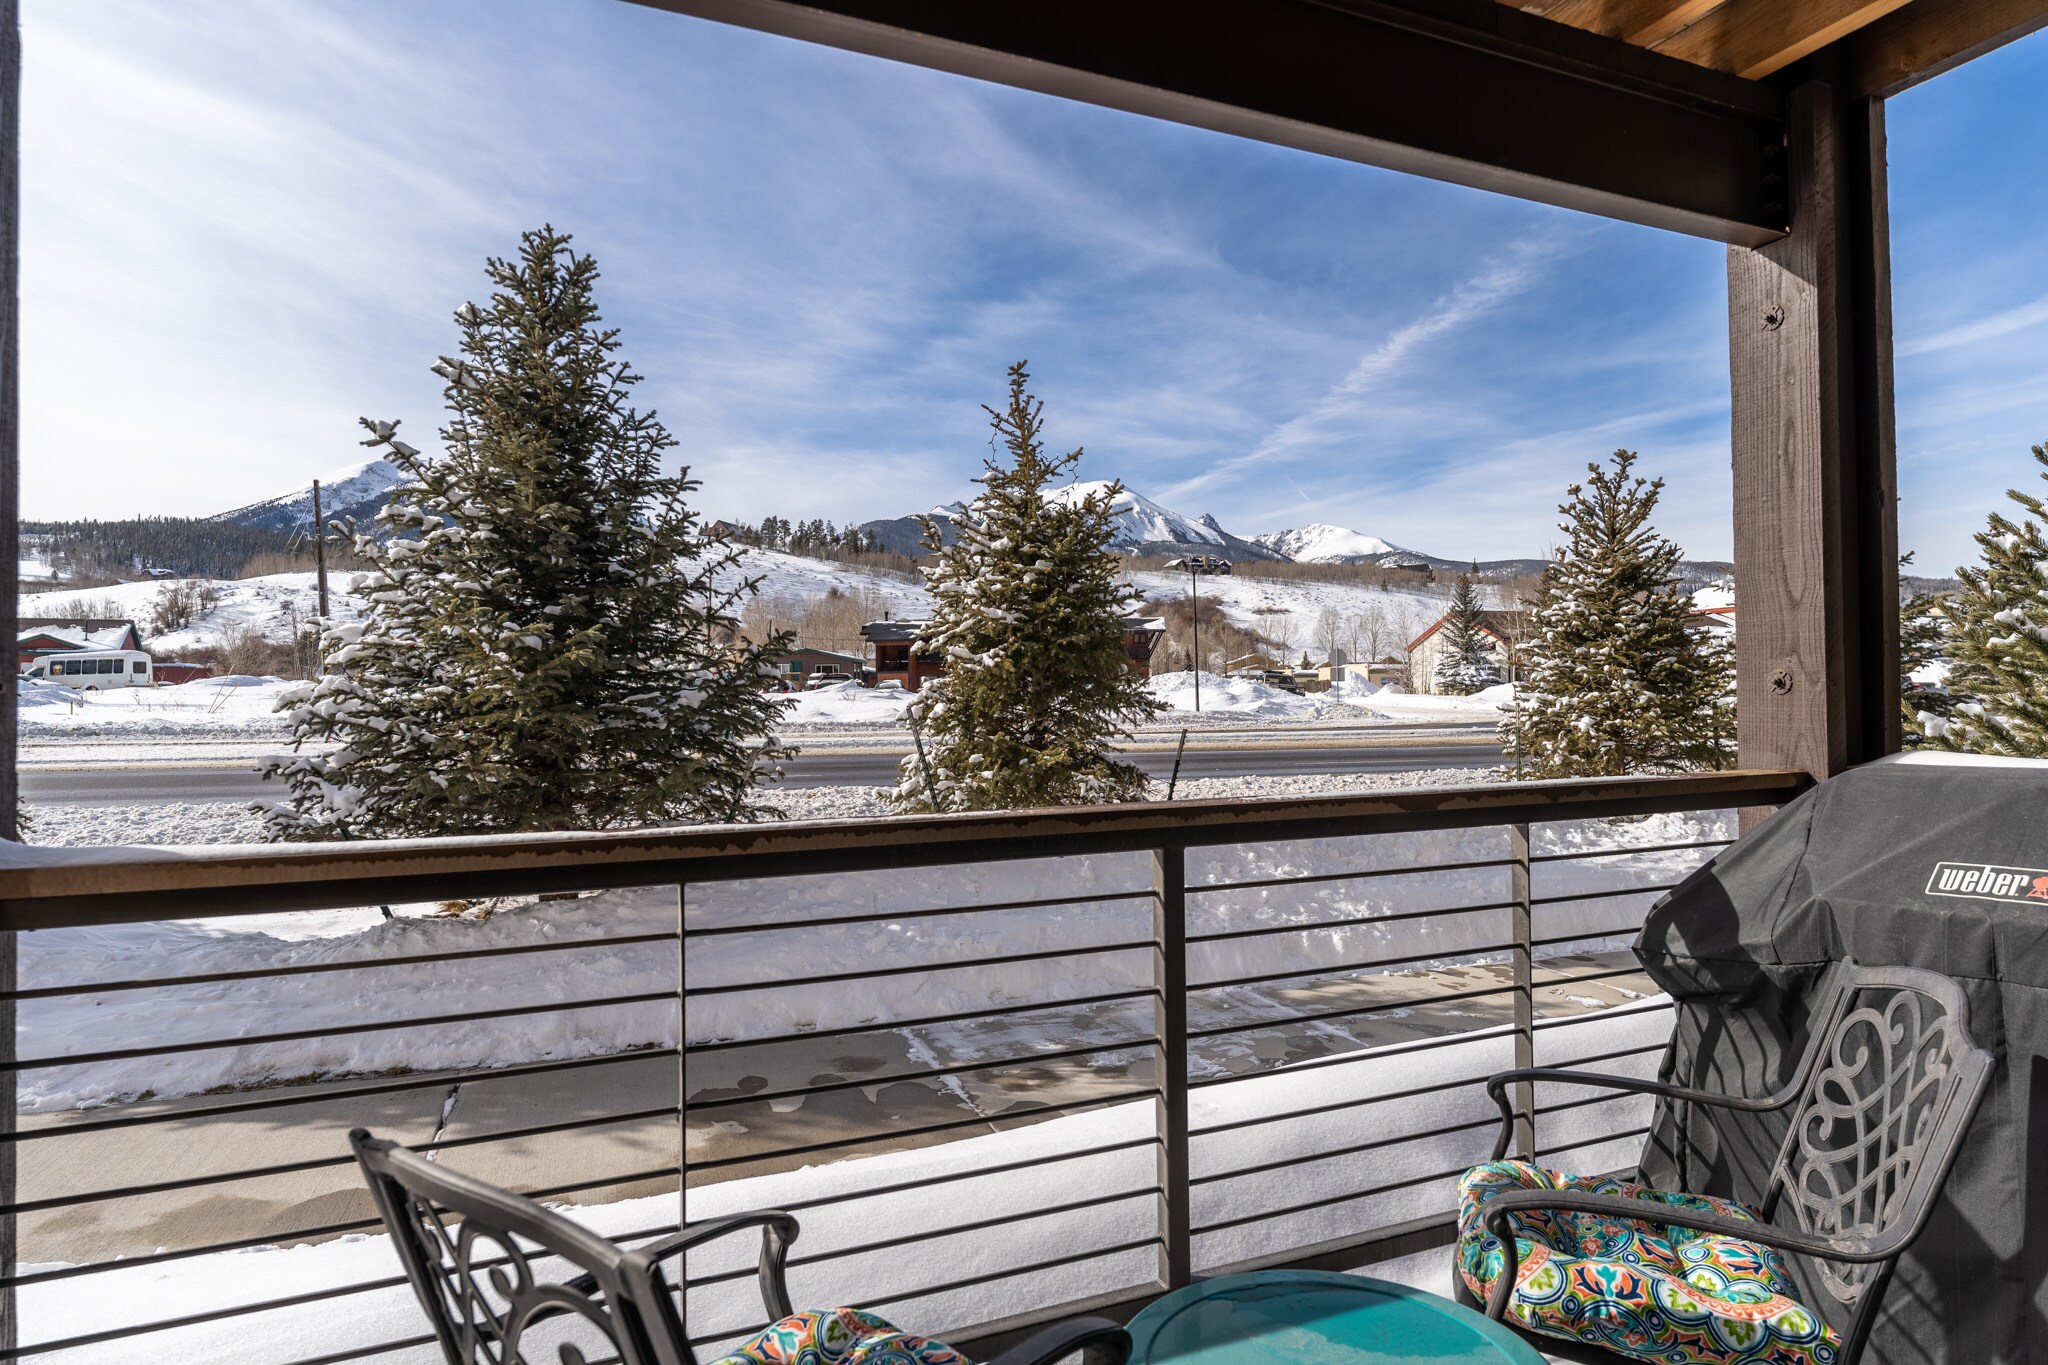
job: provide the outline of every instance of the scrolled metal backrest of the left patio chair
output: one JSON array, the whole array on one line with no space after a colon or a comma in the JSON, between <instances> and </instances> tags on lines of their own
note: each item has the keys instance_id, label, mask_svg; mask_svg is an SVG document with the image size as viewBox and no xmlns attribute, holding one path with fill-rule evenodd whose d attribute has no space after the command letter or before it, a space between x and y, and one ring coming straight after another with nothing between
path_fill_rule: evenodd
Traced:
<instances>
[{"instance_id":1,"label":"scrolled metal backrest of the left patio chair","mask_svg":"<svg viewBox=\"0 0 2048 1365\"><path fill-rule=\"evenodd\" d=\"M360 1128L348 1142L449 1365L602 1355L623 1365L688 1365L672 1291L655 1265L659 1248L625 1250ZM565 1261L573 1277L543 1279L547 1261ZM528 1345L528 1330L555 1318L575 1322L557 1322ZM594 1349L598 1338L610 1351Z\"/></svg>"}]
</instances>

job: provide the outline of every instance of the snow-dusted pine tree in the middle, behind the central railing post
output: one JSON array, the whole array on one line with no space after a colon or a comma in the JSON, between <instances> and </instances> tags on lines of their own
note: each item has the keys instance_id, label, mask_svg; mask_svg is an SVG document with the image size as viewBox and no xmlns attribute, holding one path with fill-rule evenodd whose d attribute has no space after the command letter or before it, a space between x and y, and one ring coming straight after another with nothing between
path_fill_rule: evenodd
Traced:
<instances>
[{"instance_id":1,"label":"snow-dusted pine tree in the middle, behind the central railing post","mask_svg":"<svg viewBox=\"0 0 2048 1365\"><path fill-rule=\"evenodd\" d=\"M1010 366L1010 401L987 407L1008 460L983 460L967 514L942 544L924 520L932 555L932 620L920 651L944 655L946 673L911 702L920 753L903 759L897 802L915 810L1004 810L1139 800L1145 774L1110 757L1110 743L1157 714L1130 671L1124 618L1137 593L1110 551L1110 503L1049 497L1081 452L1047 456L1042 403L1024 362ZM928 765L928 767L926 767Z\"/></svg>"}]
</instances>

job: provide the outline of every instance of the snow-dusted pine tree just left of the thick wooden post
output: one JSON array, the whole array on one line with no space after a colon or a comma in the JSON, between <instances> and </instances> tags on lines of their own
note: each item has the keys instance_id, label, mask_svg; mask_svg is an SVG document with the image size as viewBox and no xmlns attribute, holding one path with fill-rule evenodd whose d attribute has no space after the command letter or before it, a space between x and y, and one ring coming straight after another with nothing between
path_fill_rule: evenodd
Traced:
<instances>
[{"instance_id":1,"label":"snow-dusted pine tree just left of the thick wooden post","mask_svg":"<svg viewBox=\"0 0 2048 1365\"><path fill-rule=\"evenodd\" d=\"M1587 465L1559 508L1567 542L1544 569L1501 743L1532 778L1726 767L1733 659L1692 628L1679 548L1651 528L1663 479L1632 450Z\"/></svg>"}]
</instances>

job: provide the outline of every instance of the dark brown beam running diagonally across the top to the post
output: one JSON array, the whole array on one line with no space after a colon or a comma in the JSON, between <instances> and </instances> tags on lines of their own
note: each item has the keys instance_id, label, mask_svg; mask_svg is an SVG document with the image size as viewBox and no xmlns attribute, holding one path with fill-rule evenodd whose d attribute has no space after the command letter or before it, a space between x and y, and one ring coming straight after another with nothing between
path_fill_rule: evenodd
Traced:
<instances>
[{"instance_id":1,"label":"dark brown beam running diagonally across the top to the post","mask_svg":"<svg viewBox=\"0 0 2048 1365\"><path fill-rule=\"evenodd\" d=\"M1782 96L1491 0L637 0L1739 246Z\"/></svg>"}]
</instances>

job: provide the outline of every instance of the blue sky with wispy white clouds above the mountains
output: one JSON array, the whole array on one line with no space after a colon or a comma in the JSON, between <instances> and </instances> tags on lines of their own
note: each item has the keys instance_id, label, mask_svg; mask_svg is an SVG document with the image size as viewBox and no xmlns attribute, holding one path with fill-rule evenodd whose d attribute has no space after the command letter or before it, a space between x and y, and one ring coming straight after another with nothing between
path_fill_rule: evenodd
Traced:
<instances>
[{"instance_id":1,"label":"blue sky with wispy white clouds above the mountains","mask_svg":"<svg viewBox=\"0 0 2048 1365\"><path fill-rule=\"evenodd\" d=\"M1532 555L1642 452L1726 557L1708 241L618 0L27 0L23 510L209 514L438 426L481 260L541 221L721 516L969 491L1051 436L1241 534ZM2048 39L1894 100L1903 540L2048 440Z\"/></svg>"}]
</instances>

